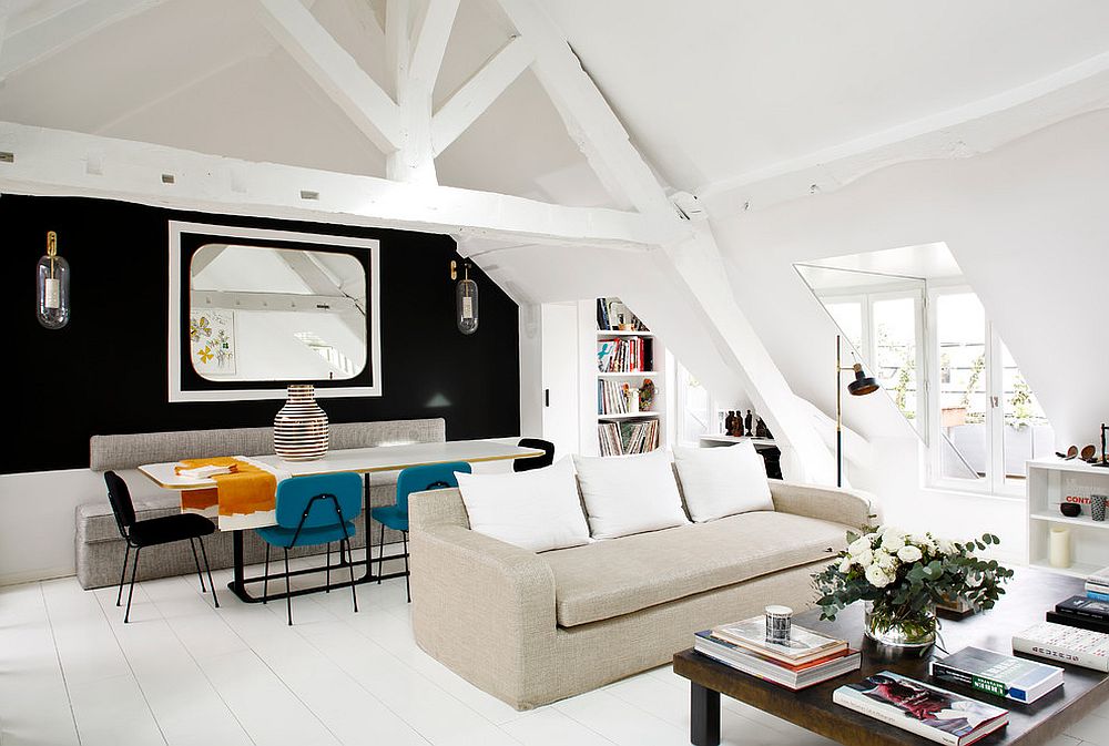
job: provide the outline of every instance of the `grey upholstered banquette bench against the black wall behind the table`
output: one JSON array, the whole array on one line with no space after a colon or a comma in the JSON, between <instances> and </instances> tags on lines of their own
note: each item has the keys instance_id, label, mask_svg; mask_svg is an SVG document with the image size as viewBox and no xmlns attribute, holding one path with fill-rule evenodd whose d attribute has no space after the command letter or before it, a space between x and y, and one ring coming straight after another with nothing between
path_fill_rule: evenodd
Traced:
<instances>
[{"instance_id":1,"label":"grey upholstered banquette bench against the black wall behind the table","mask_svg":"<svg viewBox=\"0 0 1109 746\"><path fill-rule=\"evenodd\" d=\"M441 442L446 440L446 422L441 418L417 420L387 420L380 422L349 422L332 425L330 448L370 448L383 444ZM165 490L138 471L144 463L175 461L182 458L214 456L265 456L273 453L273 428L232 428L226 430L186 430L180 432L145 432L119 436L93 436L90 439L89 467L98 474L112 470L128 482L140 520L180 512L176 492ZM370 504L391 504L396 501L397 472L370 474ZM103 482L100 482L103 486ZM357 534L354 546L366 543L366 517L355 522ZM380 527L374 532L377 541ZM232 565L232 533L216 531L204 540L213 569ZM385 532L386 543L400 541L400 534ZM292 555L322 553L323 546L294 550ZM246 562L262 562L263 542L253 531L244 533ZM115 517L108 502L106 489L90 494L89 501L77 508L77 576L82 587L113 585L120 580L124 543L115 525ZM185 542L160 546L151 552L150 561L139 569L139 580L184 575L195 571L193 555Z\"/></svg>"}]
</instances>

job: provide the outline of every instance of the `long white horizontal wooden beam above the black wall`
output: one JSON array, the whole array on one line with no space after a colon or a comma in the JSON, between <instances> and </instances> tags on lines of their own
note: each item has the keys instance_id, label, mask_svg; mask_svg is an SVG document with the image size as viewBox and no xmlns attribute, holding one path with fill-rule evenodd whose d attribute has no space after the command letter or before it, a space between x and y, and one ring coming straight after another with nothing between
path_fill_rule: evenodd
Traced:
<instances>
[{"instance_id":1,"label":"long white horizontal wooden beam above the black wall","mask_svg":"<svg viewBox=\"0 0 1109 746\"><path fill-rule=\"evenodd\" d=\"M79 195L521 243L643 251L673 241L644 216L503 194L254 163L150 143L0 122L0 192ZM99 173L90 173L89 154Z\"/></svg>"}]
</instances>

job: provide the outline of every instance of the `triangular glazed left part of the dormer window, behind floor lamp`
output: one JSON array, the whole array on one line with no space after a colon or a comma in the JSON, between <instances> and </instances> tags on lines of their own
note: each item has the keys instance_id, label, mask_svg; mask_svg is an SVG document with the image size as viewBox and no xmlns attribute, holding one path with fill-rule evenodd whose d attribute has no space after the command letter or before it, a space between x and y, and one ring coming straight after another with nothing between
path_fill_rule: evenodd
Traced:
<instances>
[{"instance_id":1,"label":"triangular glazed left part of the dormer window, behind floor lamp","mask_svg":"<svg viewBox=\"0 0 1109 746\"><path fill-rule=\"evenodd\" d=\"M796 267L854 356L927 441L927 402L918 375L925 369L926 351L924 278L816 263Z\"/></svg>"}]
</instances>

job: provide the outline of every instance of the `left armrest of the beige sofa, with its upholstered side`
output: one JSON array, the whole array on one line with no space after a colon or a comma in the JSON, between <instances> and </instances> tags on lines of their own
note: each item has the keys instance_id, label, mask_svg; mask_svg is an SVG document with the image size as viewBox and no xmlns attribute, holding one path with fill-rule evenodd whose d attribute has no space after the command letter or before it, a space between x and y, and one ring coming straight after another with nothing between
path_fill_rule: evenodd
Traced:
<instances>
[{"instance_id":1,"label":"left armrest of the beige sofa, with its upholstered side","mask_svg":"<svg viewBox=\"0 0 1109 746\"><path fill-rule=\"evenodd\" d=\"M409 499L416 642L479 688L536 706L556 673L550 565L460 525L457 490Z\"/></svg>"}]
</instances>

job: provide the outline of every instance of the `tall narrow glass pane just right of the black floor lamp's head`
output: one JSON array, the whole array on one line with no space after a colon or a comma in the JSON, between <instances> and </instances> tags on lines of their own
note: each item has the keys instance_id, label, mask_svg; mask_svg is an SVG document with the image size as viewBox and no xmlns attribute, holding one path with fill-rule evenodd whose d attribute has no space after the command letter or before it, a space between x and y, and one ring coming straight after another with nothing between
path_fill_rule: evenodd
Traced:
<instances>
[{"instance_id":1,"label":"tall narrow glass pane just right of the black floor lamp's head","mask_svg":"<svg viewBox=\"0 0 1109 746\"><path fill-rule=\"evenodd\" d=\"M916 421L916 303L874 303L874 375L906 419Z\"/></svg>"}]
</instances>

